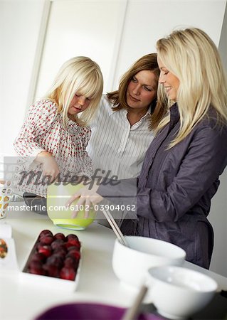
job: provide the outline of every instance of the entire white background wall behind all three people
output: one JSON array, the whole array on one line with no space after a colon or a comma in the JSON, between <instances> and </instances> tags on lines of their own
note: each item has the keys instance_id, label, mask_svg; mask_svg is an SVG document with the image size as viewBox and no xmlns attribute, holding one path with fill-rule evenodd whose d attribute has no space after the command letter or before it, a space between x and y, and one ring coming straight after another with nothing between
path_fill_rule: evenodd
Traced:
<instances>
[{"instance_id":1,"label":"entire white background wall behind all three people","mask_svg":"<svg viewBox=\"0 0 227 320\"><path fill-rule=\"evenodd\" d=\"M40 30L45 28L41 23L45 21L43 8L48 2L0 0L0 151L7 154L14 153L12 143L28 101L33 95L43 95L60 65L74 55L88 55L100 64L104 92L116 89L120 76L134 60L154 51L157 39L178 26L203 28L217 46L220 42L226 57L226 0L53 1L41 57L37 52L42 44ZM37 74L36 68L40 71ZM38 86L32 90L31 83L36 80ZM221 176L221 188L209 216L215 229L211 270L227 276L226 177L227 172Z\"/></svg>"}]
</instances>

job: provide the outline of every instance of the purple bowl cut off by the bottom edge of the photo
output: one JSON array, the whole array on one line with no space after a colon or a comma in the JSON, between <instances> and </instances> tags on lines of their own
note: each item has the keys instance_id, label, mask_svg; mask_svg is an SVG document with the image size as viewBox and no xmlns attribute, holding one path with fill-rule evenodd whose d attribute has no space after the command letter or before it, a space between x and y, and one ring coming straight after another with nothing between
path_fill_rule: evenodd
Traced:
<instances>
[{"instance_id":1,"label":"purple bowl cut off by the bottom edge of the photo","mask_svg":"<svg viewBox=\"0 0 227 320\"><path fill-rule=\"evenodd\" d=\"M120 320L125 308L107 304L62 304L44 311L35 320ZM161 320L154 314L139 314L138 320Z\"/></svg>"}]
</instances>

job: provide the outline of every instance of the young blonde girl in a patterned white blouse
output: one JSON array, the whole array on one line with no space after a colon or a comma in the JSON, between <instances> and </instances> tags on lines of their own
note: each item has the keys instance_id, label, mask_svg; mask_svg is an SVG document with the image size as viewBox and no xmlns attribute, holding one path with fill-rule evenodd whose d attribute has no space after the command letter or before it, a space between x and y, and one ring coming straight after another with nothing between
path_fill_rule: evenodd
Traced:
<instances>
[{"instance_id":1,"label":"young blonde girl in a patterned white blouse","mask_svg":"<svg viewBox=\"0 0 227 320\"><path fill-rule=\"evenodd\" d=\"M97 63L75 57L60 68L46 96L30 107L14 142L16 153L23 159L16 190L26 191L26 201L37 195L46 197L47 183L56 179L69 181L72 174L92 175L85 148L90 138L88 124L102 89Z\"/></svg>"}]
</instances>

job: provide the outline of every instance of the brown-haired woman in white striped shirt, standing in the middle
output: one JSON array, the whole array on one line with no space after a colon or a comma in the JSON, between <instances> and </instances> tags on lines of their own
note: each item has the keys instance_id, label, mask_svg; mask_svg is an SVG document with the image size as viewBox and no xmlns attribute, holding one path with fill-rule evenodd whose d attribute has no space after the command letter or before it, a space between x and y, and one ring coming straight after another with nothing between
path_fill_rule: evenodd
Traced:
<instances>
[{"instance_id":1,"label":"brown-haired woman in white striped shirt, standing in the middle","mask_svg":"<svg viewBox=\"0 0 227 320\"><path fill-rule=\"evenodd\" d=\"M160 103L157 105L158 80L157 53L150 53L127 70L118 90L102 95L90 124L92 133L87 146L95 177L139 176L154 138L152 129L164 114L164 107ZM97 216L98 221L108 225L102 215L100 217ZM115 218L122 218L119 210Z\"/></svg>"}]
</instances>

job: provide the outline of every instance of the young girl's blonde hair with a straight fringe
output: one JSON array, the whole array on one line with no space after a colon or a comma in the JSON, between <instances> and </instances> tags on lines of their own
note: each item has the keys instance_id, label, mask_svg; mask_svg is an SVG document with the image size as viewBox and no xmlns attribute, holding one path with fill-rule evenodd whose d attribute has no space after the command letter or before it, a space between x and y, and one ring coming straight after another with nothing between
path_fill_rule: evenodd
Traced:
<instances>
[{"instance_id":1,"label":"young girl's blonde hair with a straight fringe","mask_svg":"<svg viewBox=\"0 0 227 320\"><path fill-rule=\"evenodd\" d=\"M81 112L75 122L85 126L90 123L102 97L103 78L99 65L88 57L75 57L66 61L58 71L53 85L46 93L46 98L58 105L58 112L63 113L66 124L68 107L75 92L91 99L89 107Z\"/></svg>"}]
</instances>

